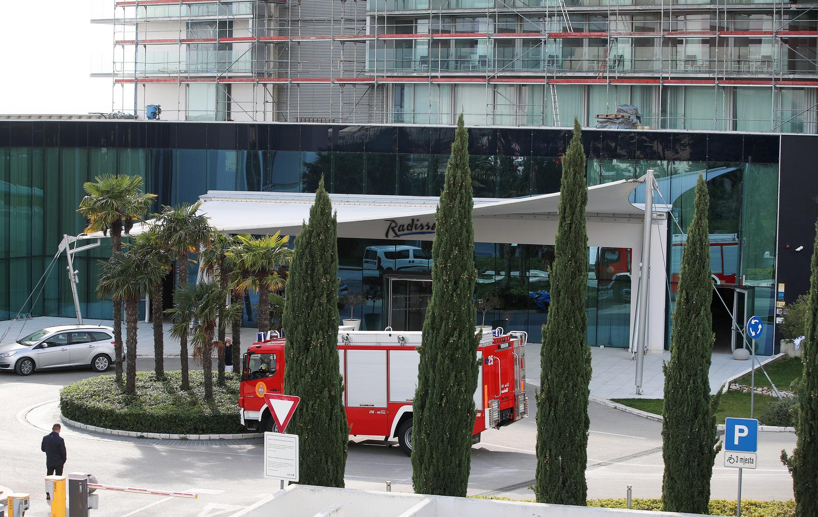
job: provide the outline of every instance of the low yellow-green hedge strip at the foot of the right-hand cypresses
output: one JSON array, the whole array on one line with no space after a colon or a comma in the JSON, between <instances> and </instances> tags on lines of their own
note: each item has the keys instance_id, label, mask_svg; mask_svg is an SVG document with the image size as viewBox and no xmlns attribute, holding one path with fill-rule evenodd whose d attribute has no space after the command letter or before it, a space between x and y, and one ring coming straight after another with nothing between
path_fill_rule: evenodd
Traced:
<instances>
[{"instance_id":1,"label":"low yellow-green hedge strip at the foot of the right-hand cypresses","mask_svg":"<svg viewBox=\"0 0 818 517\"><path fill-rule=\"evenodd\" d=\"M497 499L499 501L517 501L509 497L483 497L472 496L477 499ZM534 502L533 499L524 502ZM588 499L587 506L597 508L627 508L627 501L624 498L615 499ZM634 499L631 510L662 511L662 499ZM710 515L735 515L735 501L727 499L711 499ZM754 499L743 499L741 501L741 515L744 517L794 517L795 501L756 501Z\"/></svg>"}]
</instances>

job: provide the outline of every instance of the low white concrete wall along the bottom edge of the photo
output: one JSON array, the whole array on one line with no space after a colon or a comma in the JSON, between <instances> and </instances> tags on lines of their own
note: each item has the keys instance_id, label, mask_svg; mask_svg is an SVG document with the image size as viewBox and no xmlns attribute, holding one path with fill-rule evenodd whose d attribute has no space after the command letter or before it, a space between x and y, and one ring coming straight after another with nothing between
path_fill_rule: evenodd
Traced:
<instances>
[{"instance_id":1,"label":"low white concrete wall along the bottom edge of the photo","mask_svg":"<svg viewBox=\"0 0 818 517\"><path fill-rule=\"evenodd\" d=\"M277 481L275 483L278 483ZM469 497L426 496L348 488L290 485L233 517L641 517L685 515L676 512L616 510L585 506L544 505Z\"/></svg>"}]
</instances>

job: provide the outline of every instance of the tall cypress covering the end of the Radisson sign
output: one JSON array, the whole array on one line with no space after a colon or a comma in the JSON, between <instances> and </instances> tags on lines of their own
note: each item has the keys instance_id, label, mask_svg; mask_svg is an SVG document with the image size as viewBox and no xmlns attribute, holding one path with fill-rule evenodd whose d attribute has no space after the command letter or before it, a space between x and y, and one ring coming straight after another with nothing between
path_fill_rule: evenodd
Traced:
<instances>
[{"instance_id":1,"label":"tall cypress covering the end of the Radisson sign","mask_svg":"<svg viewBox=\"0 0 818 517\"><path fill-rule=\"evenodd\" d=\"M468 145L461 114L435 213L432 297L423 322L411 431L415 492L461 497L469 484L479 343Z\"/></svg>"}]
</instances>

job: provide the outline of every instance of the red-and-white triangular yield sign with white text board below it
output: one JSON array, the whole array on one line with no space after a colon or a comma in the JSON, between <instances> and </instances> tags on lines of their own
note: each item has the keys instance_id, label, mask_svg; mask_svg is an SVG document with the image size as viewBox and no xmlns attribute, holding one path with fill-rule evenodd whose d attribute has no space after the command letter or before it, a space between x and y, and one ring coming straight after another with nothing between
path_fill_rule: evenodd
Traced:
<instances>
[{"instance_id":1,"label":"red-and-white triangular yield sign with white text board below it","mask_svg":"<svg viewBox=\"0 0 818 517\"><path fill-rule=\"evenodd\" d=\"M299 435L285 434L284 430L301 398L264 393L264 401L267 402L270 417L276 424L275 432L264 433L264 475L281 479L283 490L285 481L299 480Z\"/></svg>"}]
</instances>

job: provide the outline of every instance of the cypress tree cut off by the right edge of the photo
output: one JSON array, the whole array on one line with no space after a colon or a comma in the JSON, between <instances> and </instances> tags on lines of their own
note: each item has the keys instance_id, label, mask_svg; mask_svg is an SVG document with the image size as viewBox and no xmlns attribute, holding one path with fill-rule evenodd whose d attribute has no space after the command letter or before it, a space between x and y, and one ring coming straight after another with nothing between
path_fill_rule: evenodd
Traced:
<instances>
[{"instance_id":1,"label":"cypress tree cut off by the right edge of the photo","mask_svg":"<svg viewBox=\"0 0 818 517\"><path fill-rule=\"evenodd\" d=\"M818 234L818 223L816 223ZM793 474L796 517L818 515L818 235L812 250L812 276L807 302L807 335L801 343L803 376L796 389L798 417L795 421L793 456L781 451L781 461Z\"/></svg>"}]
</instances>

